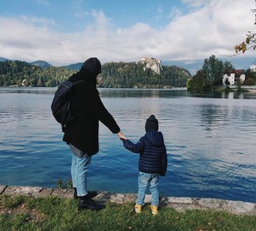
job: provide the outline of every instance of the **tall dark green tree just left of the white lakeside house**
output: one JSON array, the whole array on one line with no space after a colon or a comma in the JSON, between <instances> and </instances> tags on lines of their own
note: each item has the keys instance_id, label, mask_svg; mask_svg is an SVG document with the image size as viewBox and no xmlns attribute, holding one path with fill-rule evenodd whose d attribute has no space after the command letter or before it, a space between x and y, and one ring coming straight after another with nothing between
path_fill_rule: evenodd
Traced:
<instances>
[{"instance_id":1,"label":"tall dark green tree just left of the white lakeside house","mask_svg":"<svg viewBox=\"0 0 256 231\"><path fill-rule=\"evenodd\" d=\"M204 60L202 69L206 75L206 83L213 91L213 86L216 83L220 83L222 80L222 74L224 71L223 63L221 60L216 59L215 55L212 55L209 59Z\"/></svg>"}]
</instances>

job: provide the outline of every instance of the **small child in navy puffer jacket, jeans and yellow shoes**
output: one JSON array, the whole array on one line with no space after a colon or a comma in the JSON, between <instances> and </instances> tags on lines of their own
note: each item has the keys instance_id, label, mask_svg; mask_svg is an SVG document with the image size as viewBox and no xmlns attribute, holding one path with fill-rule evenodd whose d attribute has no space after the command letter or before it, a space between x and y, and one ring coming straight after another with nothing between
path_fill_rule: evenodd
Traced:
<instances>
[{"instance_id":1,"label":"small child in navy puffer jacket, jeans and yellow shoes","mask_svg":"<svg viewBox=\"0 0 256 231\"><path fill-rule=\"evenodd\" d=\"M149 116L146 125L146 134L140 138L137 144L128 139L121 139L123 146L133 153L140 153L139 160L139 179L138 179L138 195L135 204L135 212L140 214L144 197L149 184L149 190L152 196L151 211L152 214L158 214L159 206L159 175L165 176L167 169L166 146L163 141L163 134L158 132L159 123L154 115Z\"/></svg>"}]
</instances>

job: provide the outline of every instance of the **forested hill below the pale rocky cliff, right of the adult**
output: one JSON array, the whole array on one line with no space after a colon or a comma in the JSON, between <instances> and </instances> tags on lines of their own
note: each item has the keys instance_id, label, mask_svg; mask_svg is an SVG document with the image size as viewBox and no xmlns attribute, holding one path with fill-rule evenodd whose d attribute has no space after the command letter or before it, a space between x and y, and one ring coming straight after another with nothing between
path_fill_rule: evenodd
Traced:
<instances>
[{"instance_id":1,"label":"forested hill below the pale rocky cliff, right of the adult","mask_svg":"<svg viewBox=\"0 0 256 231\"><path fill-rule=\"evenodd\" d=\"M178 66L163 66L160 74L143 69L135 62L107 62L102 66L102 87L185 87L189 71Z\"/></svg>"}]
</instances>

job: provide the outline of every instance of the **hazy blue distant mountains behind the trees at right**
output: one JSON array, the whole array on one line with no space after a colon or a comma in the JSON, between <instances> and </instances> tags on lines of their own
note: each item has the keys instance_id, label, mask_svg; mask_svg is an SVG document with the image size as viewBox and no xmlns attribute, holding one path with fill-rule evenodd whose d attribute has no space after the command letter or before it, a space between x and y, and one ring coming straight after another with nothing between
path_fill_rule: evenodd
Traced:
<instances>
[{"instance_id":1,"label":"hazy blue distant mountains behind the trees at right","mask_svg":"<svg viewBox=\"0 0 256 231\"><path fill-rule=\"evenodd\" d=\"M250 65L255 64L255 57L217 57L217 59L222 60L222 62L231 62L235 69L247 70ZM202 69L204 59L187 59L179 61L162 61L163 65L166 66L180 66L187 69L191 75L194 75L196 71Z\"/></svg>"}]
</instances>

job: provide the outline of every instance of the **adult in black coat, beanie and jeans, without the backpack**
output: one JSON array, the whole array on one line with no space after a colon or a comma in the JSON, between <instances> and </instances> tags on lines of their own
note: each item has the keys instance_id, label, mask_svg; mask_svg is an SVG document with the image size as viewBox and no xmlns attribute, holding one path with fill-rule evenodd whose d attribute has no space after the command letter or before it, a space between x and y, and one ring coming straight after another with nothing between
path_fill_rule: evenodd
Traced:
<instances>
[{"instance_id":1,"label":"adult in black coat, beanie and jeans, without the backpack","mask_svg":"<svg viewBox=\"0 0 256 231\"><path fill-rule=\"evenodd\" d=\"M72 92L72 113L76 116L76 122L65 129L63 141L69 144L72 155L72 181L75 190L74 197L79 198L79 209L100 210L104 207L97 204L91 198L93 193L87 190L87 171L92 155L99 151L99 120L111 130L123 138L119 125L107 111L97 91L96 84L100 80L97 75L101 73L100 60L90 57L83 63L80 71L74 73L69 80L76 82Z\"/></svg>"}]
</instances>

